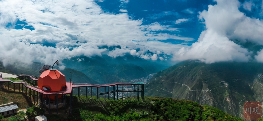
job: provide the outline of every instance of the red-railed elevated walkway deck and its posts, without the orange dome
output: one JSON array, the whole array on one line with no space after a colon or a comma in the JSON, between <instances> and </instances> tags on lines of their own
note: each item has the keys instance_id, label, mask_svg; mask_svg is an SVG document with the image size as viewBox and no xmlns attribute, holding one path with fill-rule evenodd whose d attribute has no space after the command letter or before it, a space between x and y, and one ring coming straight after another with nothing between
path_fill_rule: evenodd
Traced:
<instances>
[{"instance_id":1,"label":"red-railed elevated walkway deck and its posts, without the orange dome","mask_svg":"<svg viewBox=\"0 0 263 121\"><path fill-rule=\"evenodd\" d=\"M34 80L34 82L38 81L38 78L35 78L32 75L19 75L19 78L27 78L28 80ZM72 101L72 88L80 88L80 87L86 87L86 98L87 98L87 87L91 87L90 88L90 96L92 98L92 87L95 87L96 89L96 97L97 100L101 98L101 96L103 96L104 100L106 99L106 96L108 95L108 99L113 98L115 100L115 98L118 100L119 96L121 96L122 100L124 99L124 93L125 95L127 95L127 100L132 100L132 93L133 93L133 100L135 100L135 96L139 101L139 96L141 96L141 99L144 100L144 83L143 82L136 82L136 83L128 83L128 82L116 82L116 83L109 83L109 84L73 84L72 82L66 81L66 85L67 85L67 89L65 91L57 91L57 92L46 92L41 90L41 88L37 87L37 86L33 86L28 84L26 81L14 81L11 79L3 79L2 74L0 73L0 82L11 82L14 84L14 91L15 91L15 84L23 84L25 86L25 88L29 88L29 96L31 96L31 90L33 90L33 100L34 100L34 104L35 104L35 91L37 92L37 104L39 105L40 102L42 102L42 105L47 105L47 102L49 104L49 114L50 114L50 96L54 96L56 95L56 108L57 108L57 114L58 114L58 95L63 95L62 96L62 100L66 100L66 96L67 94L70 94L70 109L69 112L71 113L71 101ZM119 88L119 86L122 85L122 89L121 87ZM131 86L130 86L131 85ZM111 89L111 86L112 89ZM128 86L127 90L124 88L124 86ZM133 86L133 88L132 88ZM101 88L103 87L103 89ZM9 88L9 83L8 83L8 88ZM20 88L20 86L19 86ZM125 89L125 90L124 90ZM19 89L20 90L20 89ZM22 86L22 90L23 90L23 86ZM22 91L24 92L24 91ZM27 89L25 91L26 95L27 95ZM117 93L117 94L116 94ZM120 95L118 95L118 93ZM122 93L122 95L121 95ZM136 94L137 93L137 94ZM46 95L46 96L45 96ZM49 95L49 101L47 101L47 95ZM78 89L78 96L80 95L80 89ZM129 96L130 95L130 96ZM44 98L43 98L44 97ZM46 98L45 98L46 97ZM41 100L41 101L40 101ZM46 103L45 103L46 102ZM63 105L64 105L65 101L63 101ZM44 112L45 112L45 108L43 108ZM65 105L65 112L66 112L66 105Z\"/></svg>"}]
</instances>

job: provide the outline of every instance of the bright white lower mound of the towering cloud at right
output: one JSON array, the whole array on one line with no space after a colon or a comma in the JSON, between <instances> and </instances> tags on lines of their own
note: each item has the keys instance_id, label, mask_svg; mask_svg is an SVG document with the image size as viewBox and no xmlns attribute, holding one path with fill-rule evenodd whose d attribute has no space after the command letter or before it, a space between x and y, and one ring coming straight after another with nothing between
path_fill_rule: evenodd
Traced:
<instances>
[{"instance_id":1,"label":"bright white lower mound of the towering cloud at right","mask_svg":"<svg viewBox=\"0 0 263 121\"><path fill-rule=\"evenodd\" d=\"M247 62L250 54L246 49L230 41L227 37L218 35L213 30L202 32L198 42L193 43L191 48L181 48L174 53L173 59L182 60L201 60L206 63L218 61L239 61Z\"/></svg>"}]
</instances>

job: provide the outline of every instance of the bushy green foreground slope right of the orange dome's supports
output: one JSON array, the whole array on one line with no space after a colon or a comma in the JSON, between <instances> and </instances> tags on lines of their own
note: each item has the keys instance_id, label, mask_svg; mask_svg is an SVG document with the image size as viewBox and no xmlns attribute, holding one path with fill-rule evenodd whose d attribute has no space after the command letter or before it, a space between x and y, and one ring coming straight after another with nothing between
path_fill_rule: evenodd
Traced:
<instances>
[{"instance_id":1,"label":"bushy green foreground slope right of the orange dome's supports","mask_svg":"<svg viewBox=\"0 0 263 121\"><path fill-rule=\"evenodd\" d=\"M67 118L57 115L47 115L56 120L115 120L115 121L242 121L242 119L227 114L215 107L200 105L190 100L172 98L145 97L142 101L87 99L85 96L73 97L72 114Z\"/></svg>"}]
</instances>

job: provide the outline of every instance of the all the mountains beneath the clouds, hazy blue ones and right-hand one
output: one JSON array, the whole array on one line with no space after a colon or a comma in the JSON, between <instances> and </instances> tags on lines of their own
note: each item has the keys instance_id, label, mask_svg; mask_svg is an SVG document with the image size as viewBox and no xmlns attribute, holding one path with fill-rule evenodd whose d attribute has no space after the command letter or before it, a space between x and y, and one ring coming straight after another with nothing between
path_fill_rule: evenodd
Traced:
<instances>
[{"instance_id":1,"label":"all the mountains beneath the clouds, hazy blue ones and right-hand one","mask_svg":"<svg viewBox=\"0 0 263 121\"><path fill-rule=\"evenodd\" d=\"M62 62L66 68L59 71L66 76L66 80L69 80L72 72L74 83L124 82L157 72L145 84L145 96L192 100L241 118L245 101L263 102L263 64L257 62L206 64L188 60L168 67L171 64L131 56L75 57ZM38 71L42 66L33 62L31 65L17 63L4 67L0 63L0 71L39 77Z\"/></svg>"}]
</instances>

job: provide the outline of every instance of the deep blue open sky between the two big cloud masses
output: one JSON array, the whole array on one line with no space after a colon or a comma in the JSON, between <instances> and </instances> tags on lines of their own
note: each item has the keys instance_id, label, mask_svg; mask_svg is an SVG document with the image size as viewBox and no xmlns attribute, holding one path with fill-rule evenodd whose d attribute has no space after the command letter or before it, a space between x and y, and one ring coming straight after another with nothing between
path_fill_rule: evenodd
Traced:
<instances>
[{"instance_id":1,"label":"deep blue open sky between the two big cloud masses","mask_svg":"<svg viewBox=\"0 0 263 121\"><path fill-rule=\"evenodd\" d=\"M104 12L113 14L122 13L120 9L126 9L129 16L133 19L143 19L142 25L149 25L154 22L158 22L161 25L169 25L174 28L179 28L179 31L158 31L169 34L179 34L185 37L194 38L195 41L187 42L187 45L191 45L196 42L200 33L205 29L204 24L198 20L198 11L208 9L209 4L215 4L210 0L196 1L196 0L147 0L140 1L134 0L123 4L121 1L105 0L97 1ZM176 20L188 19L186 22L175 24ZM180 40L168 39L162 42L171 43L183 43Z\"/></svg>"}]
</instances>

